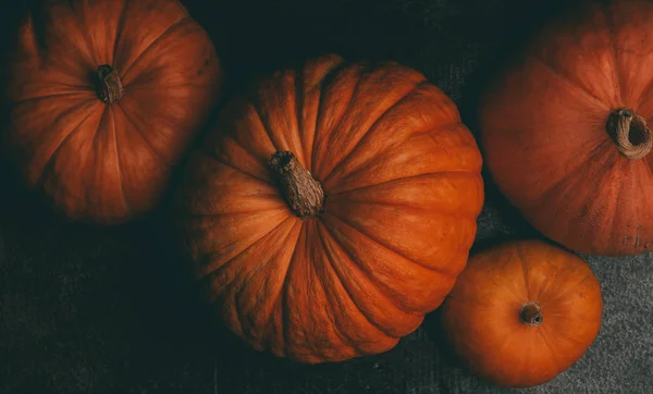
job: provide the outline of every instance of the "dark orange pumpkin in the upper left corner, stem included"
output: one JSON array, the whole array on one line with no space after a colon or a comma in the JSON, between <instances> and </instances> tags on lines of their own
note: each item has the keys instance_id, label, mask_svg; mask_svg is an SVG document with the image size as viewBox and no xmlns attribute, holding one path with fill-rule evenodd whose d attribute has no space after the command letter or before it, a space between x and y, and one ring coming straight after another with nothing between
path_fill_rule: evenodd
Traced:
<instances>
[{"instance_id":1,"label":"dark orange pumpkin in the upper left corner, stem included","mask_svg":"<svg viewBox=\"0 0 653 394\"><path fill-rule=\"evenodd\" d=\"M176 0L46 1L17 39L5 148L25 183L73 221L151 210L219 94L206 32Z\"/></svg>"}]
</instances>

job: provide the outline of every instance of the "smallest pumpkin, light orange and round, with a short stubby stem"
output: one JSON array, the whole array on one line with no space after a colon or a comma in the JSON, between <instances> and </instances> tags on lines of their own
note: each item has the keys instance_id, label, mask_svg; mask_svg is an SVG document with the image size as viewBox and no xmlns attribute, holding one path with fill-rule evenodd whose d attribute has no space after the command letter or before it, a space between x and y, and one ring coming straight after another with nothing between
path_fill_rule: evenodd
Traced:
<instances>
[{"instance_id":1,"label":"smallest pumpkin, light orange and round, with a short stubby stem","mask_svg":"<svg viewBox=\"0 0 653 394\"><path fill-rule=\"evenodd\" d=\"M445 336L471 371L526 387L582 357L601 328L603 299L578 256L520 241L475 254L441 311Z\"/></svg>"}]
</instances>

